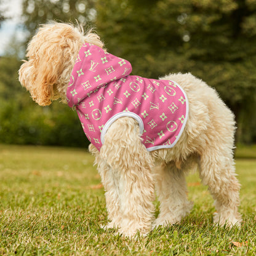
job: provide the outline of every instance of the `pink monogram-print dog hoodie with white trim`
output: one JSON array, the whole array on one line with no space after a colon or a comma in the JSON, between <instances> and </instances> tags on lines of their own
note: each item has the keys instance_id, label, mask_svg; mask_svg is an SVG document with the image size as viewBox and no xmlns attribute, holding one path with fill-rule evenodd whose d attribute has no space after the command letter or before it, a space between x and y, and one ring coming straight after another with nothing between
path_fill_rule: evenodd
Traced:
<instances>
[{"instance_id":1,"label":"pink monogram-print dog hoodie with white trim","mask_svg":"<svg viewBox=\"0 0 256 256\"><path fill-rule=\"evenodd\" d=\"M172 148L188 118L188 100L175 81L130 76L127 60L84 44L66 92L89 141L100 150L108 127L122 116L138 121L148 151Z\"/></svg>"}]
</instances>

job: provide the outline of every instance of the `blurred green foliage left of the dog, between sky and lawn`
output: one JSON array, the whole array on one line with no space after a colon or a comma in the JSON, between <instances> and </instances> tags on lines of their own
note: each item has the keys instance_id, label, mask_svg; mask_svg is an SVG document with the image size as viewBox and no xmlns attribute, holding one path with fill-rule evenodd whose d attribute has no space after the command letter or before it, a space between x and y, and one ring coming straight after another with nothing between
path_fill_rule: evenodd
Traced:
<instances>
[{"instance_id":1,"label":"blurred green foliage left of the dog, between sky and lawn","mask_svg":"<svg viewBox=\"0 0 256 256\"><path fill-rule=\"evenodd\" d=\"M0 142L88 146L76 111L61 103L42 108L18 82L21 62L0 58Z\"/></svg>"}]
</instances>

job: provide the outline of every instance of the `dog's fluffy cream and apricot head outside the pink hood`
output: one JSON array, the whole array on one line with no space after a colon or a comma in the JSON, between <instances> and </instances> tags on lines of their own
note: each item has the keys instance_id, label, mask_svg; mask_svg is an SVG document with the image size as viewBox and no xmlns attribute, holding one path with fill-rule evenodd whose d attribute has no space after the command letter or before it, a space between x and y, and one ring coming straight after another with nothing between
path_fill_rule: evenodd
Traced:
<instances>
[{"instance_id":1,"label":"dog's fluffy cream and apricot head outside the pink hood","mask_svg":"<svg viewBox=\"0 0 256 256\"><path fill-rule=\"evenodd\" d=\"M66 87L84 42L103 47L97 34L84 34L81 27L56 22L40 26L28 44L28 60L18 71L20 83L36 103L46 106L58 98L65 102Z\"/></svg>"}]
</instances>

